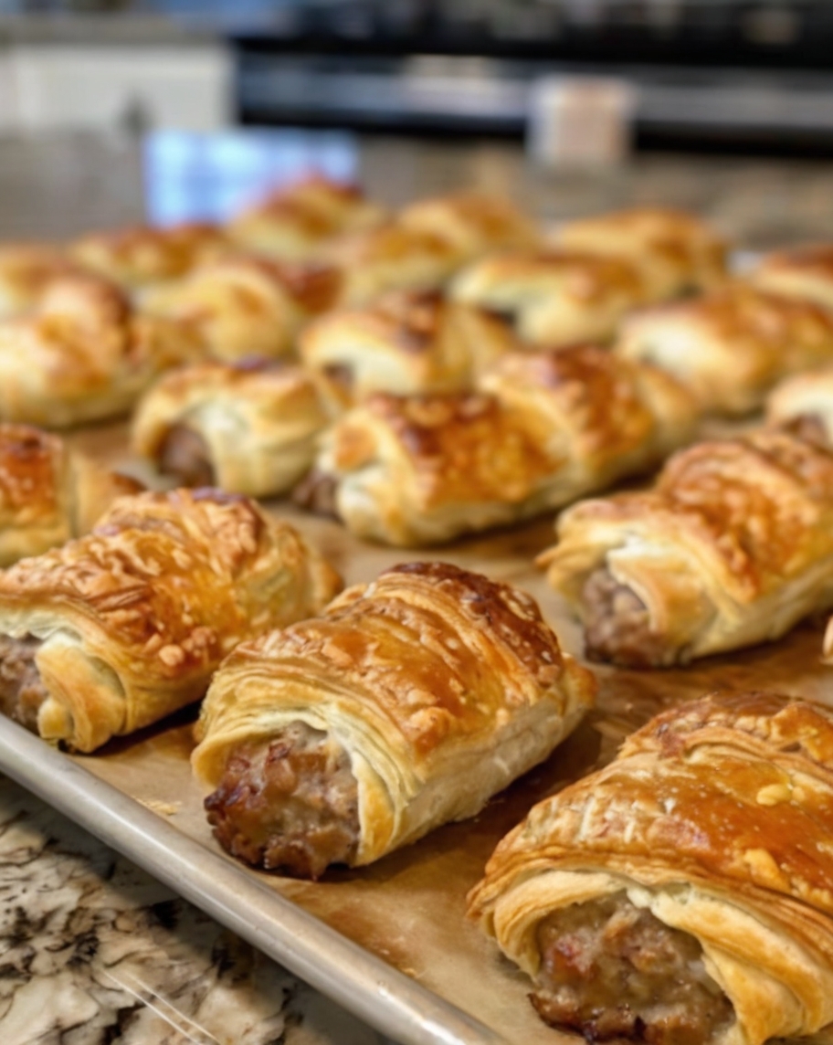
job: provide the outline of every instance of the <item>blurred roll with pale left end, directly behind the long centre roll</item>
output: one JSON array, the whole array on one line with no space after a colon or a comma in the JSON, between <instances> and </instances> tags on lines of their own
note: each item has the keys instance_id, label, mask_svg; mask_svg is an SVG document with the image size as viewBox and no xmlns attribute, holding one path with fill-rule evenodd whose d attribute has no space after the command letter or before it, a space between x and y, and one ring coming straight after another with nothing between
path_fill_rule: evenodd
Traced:
<instances>
[{"instance_id":1,"label":"blurred roll with pale left end, directly behind the long centre roll","mask_svg":"<svg viewBox=\"0 0 833 1045\"><path fill-rule=\"evenodd\" d=\"M322 316L298 347L328 401L344 408L375 392L466 391L515 340L499 318L426 292Z\"/></svg>"}]
</instances>

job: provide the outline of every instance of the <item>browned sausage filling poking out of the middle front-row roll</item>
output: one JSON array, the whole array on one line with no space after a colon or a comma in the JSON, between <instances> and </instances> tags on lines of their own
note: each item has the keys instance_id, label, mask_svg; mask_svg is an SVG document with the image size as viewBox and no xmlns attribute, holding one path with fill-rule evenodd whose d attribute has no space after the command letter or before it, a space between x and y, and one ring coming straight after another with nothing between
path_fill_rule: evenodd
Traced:
<instances>
[{"instance_id":1,"label":"browned sausage filling poking out of the middle front-row roll","mask_svg":"<svg viewBox=\"0 0 833 1045\"><path fill-rule=\"evenodd\" d=\"M315 879L355 857L358 790L350 760L328 734L303 722L238 748L205 806L221 845L255 866Z\"/></svg>"}]
</instances>

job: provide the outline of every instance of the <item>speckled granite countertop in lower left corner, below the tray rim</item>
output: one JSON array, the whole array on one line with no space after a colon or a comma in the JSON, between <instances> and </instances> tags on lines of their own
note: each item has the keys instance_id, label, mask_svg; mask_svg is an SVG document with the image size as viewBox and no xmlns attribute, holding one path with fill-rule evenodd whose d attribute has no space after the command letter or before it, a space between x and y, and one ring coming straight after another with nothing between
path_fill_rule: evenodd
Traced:
<instances>
[{"instance_id":1,"label":"speckled granite countertop in lower left corner, below the tray rim","mask_svg":"<svg viewBox=\"0 0 833 1045\"><path fill-rule=\"evenodd\" d=\"M0 777L3 1045L384 1045Z\"/></svg>"}]
</instances>

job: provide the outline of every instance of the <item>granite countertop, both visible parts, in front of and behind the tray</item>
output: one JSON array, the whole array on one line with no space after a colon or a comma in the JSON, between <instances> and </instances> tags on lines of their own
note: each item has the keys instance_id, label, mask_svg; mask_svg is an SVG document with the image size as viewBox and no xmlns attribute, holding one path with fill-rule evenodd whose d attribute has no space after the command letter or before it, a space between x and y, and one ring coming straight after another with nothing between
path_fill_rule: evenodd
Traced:
<instances>
[{"instance_id":1,"label":"granite countertop, both visible parts, in front of and behind the tray","mask_svg":"<svg viewBox=\"0 0 833 1045\"><path fill-rule=\"evenodd\" d=\"M222 217L318 168L397 204L462 184L541 218L635 202L692 207L751 250L833 238L829 163L639 158L555 173L510 143L219 137L0 139L0 239ZM381 1045L384 1039L0 777L2 1045Z\"/></svg>"}]
</instances>

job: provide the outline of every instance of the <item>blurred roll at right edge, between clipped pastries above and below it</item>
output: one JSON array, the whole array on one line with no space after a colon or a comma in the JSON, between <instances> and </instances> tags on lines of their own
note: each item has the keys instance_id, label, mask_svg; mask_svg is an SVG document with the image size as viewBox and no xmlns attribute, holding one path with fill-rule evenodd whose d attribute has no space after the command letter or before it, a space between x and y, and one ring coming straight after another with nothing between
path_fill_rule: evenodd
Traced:
<instances>
[{"instance_id":1,"label":"blurred roll at right edge, between clipped pastries above and below it","mask_svg":"<svg viewBox=\"0 0 833 1045\"><path fill-rule=\"evenodd\" d=\"M833 361L833 314L736 283L629 317L616 351L668 370L704 410L745 414L778 381Z\"/></svg>"}]
</instances>

